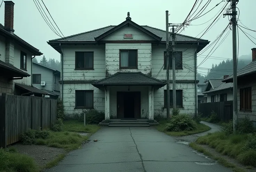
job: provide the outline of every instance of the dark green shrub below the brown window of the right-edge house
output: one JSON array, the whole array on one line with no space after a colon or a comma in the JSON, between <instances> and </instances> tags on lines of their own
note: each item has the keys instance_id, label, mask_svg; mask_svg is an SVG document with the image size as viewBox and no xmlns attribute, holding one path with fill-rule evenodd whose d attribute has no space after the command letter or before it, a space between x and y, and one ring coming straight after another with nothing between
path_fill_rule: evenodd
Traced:
<instances>
[{"instance_id":1,"label":"dark green shrub below the brown window of the right-edge house","mask_svg":"<svg viewBox=\"0 0 256 172\"><path fill-rule=\"evenodd\" d=\"M249 134L254 131L254 125L248 117L245 117L238 121L236 129L239 134Z\"/></svg>"}]
</instances>

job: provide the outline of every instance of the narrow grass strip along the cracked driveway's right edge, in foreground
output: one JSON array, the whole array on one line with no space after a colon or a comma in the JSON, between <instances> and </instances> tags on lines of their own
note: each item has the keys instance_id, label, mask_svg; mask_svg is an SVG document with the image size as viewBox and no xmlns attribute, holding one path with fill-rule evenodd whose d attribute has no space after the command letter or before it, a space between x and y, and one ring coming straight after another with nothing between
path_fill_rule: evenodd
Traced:
<instances>
[{"instance_id":1,"label":"narrow grass strip along the cracked driveway's right edge, in foreground","mask_svg":"<svg viewBox=\"0 0 256 172\"><path fill-rule=\"evenodd\" d=\"M214 156L209 151L207 151L205 148L201 147L200 145L197 145L196 143L190 143L189 146L192 147L193 149L197 150L198 152L203 153L212 159L215 159L219 164L222 164L225 167L231 168L235 172L245 172L245 170L243 170L242 168L238 167L237 165L235 165L233 163L230 163L229 161L227 161L227 159L225 159L223 157Z\"/></svg>"}]
</instances>

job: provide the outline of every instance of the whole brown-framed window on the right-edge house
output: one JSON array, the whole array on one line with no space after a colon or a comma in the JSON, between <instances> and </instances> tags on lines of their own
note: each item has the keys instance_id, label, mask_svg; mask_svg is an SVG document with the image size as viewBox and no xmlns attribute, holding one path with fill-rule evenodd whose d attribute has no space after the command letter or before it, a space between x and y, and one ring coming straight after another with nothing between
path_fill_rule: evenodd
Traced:
<instances>
[{"instance_id":1,"label":"whole brown-framed window on the right-edge house","mask_svg":"<svg viewBox=\"0 0 256 172\"><path fill-rule=\"evenodd\" d=\"M251 87L240 89L240 110L251 110Z\"/></svg>"}]
</instances>

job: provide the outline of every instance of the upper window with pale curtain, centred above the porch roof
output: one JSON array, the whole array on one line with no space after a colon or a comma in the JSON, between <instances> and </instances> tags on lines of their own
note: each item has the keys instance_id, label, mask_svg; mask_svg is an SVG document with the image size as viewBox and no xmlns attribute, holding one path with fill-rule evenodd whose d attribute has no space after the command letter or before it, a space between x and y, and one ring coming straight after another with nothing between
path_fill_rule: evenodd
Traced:
<instances>
[{"instance_id":1,"label":"upper window with pale curtain, centred above the porch roof","mask_svg":"<svg viewBox=\"0 0 256 172\"><path fill-rule=\"evenodd\" d=\"M120 50L119 68L138 68L138 50Z\"/></svg>"}]
</instances>

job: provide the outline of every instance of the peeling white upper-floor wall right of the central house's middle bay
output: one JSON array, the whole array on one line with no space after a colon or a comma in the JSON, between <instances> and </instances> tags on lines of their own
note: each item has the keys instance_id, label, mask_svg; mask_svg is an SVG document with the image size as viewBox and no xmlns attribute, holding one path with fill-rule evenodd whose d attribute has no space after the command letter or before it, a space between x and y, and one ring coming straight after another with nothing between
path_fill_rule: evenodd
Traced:
<instances>
[{"instance_id":1,"label":"peeling white upper-floor wall right of the central house's middle bay","mask_svg":"<svg viewBox=\"0 0 256 172\"><path fill-rule=\"evenodd\" d=\"M182 46L177 45L175 47L175 51L184 51L182 52L182 61L183 69L176 69L175 70L175 77L176 80L195 80L195 70L194 70L194 64L195 64L195 46ZM187 49L187 50L186 50ZM159 45L159 46L152 46L152 76L156 76L159 71L161 72L158 74L157 79L166 80L166 69L163 69L163 63L164 63L164 51L166 51L165 45ZM188 69L189 68L189 69ZM170 78L172 79L173 76L172 69L170 70Z\"/></svg>"}]
</instances>

